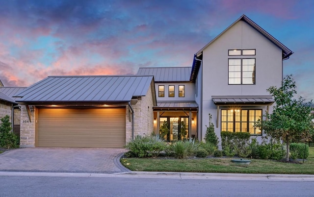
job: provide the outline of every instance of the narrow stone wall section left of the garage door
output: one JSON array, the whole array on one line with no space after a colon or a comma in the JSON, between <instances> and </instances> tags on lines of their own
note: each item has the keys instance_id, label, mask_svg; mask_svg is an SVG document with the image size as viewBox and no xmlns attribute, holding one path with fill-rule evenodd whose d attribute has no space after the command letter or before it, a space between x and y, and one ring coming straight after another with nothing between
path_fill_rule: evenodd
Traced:
<instances>
[{"instance_id":1,"label":"narrow stone wall section left of the garage door","mask_svg":"<svg viewBox=\"0 0 314 197\"><path fill-rule=\"evenodd\" d=\"M35 110L29 105L31 122L29 121L26 106L21 106L20 148L35 147Z\"/></svg>"}]
</instances>

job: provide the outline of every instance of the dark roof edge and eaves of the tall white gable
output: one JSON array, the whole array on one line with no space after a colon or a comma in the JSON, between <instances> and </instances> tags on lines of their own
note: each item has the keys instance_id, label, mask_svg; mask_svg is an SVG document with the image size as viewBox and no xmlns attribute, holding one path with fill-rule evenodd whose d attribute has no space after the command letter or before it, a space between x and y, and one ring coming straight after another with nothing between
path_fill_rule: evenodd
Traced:
<instances>
[{"instance_id":1,"label":"dark roof edge and eaves of the tall white gable","mask_svg":"<svg viewBox=\"0 0 314 197\"><path fill-rule=\"evenodd\" d=\"M196 74L198 72L200 61L195 60L195 57L197 59L202 59L201 55L203 53L203 50L207 48L211 43L213 43L215 40L217 40L222 34L224 34L226 31L228 31L233 25L235 25L239 21L244 21L247 24L251 25L253 28L255 28L257 31L259 31L262 35L264 35L267 39L269 39L271 42L273 42L277 47L282 49L282 58L286 59L288 58L293 52L288 49L285 45L283 45L281 42L279 42L277 39L275 39L272 35L270 35L267 31L265 31L262 27L254 23L251 19L249 19L247 16L242 15L239 19L237 19L233 24L231 24L228 28L226 28L223 32L221 32L218 36L216 36L214 39L212 39L205 47L200 49L197 53L195 53L193 58L193 64L192 64L192 72L190 75L190 80L195 80Z\"/></svg>"}]
</instances>

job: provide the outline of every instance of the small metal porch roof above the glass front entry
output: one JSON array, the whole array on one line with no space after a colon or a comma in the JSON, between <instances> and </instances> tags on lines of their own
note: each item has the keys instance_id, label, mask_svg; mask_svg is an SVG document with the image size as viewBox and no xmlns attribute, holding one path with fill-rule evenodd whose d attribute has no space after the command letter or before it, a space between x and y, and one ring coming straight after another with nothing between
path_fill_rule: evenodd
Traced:
<instances>
[{"instance_id":1,"label":"small metal porch roof above the glass front entry","mask_svg":"<svg viewBox=\"0 0 314 197\"><path fill-rule=\"evenodd\" d=\"M155 111L198 111L198 104L196 102L157 102L157 106L154 107Z\"/></svg>"}]
</instances>

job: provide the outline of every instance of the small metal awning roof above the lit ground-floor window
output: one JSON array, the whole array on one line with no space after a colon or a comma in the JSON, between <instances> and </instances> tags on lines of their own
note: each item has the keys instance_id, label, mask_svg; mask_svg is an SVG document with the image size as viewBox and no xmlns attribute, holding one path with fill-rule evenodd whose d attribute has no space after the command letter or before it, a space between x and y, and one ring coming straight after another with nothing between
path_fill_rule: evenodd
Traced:
<instances>
[{"instance_id":1,"label":"small metal awning roof above the lit ground-floor window","mask_svg":"<svg viewBox=\"0 0 314 197\"><path fill-rule=\"evenodd\" d=\"M211 96L215 104L271 104L275 102L272 96Z\"/></svg>"}]
</instances>

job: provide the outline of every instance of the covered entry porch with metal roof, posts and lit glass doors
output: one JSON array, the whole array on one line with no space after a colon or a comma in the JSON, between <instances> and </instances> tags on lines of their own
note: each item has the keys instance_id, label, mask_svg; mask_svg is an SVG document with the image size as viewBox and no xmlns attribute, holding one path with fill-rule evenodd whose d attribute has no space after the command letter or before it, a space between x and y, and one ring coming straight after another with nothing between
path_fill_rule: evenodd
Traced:
<instances>
[{"instance_id":1,"label":"covered entry porch with metal roof, posts and lit glass doors","mask_svg":"<svg viewBox=\"0 0 314 197\"><path fill-rule=\"evenodd\" d=\"M197 112L195 102L158 102L154 107L154 133L162 133L167 142L197 138Z\"/></svg>"}]
</instances>

